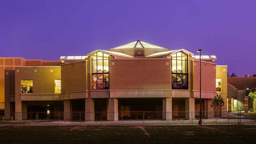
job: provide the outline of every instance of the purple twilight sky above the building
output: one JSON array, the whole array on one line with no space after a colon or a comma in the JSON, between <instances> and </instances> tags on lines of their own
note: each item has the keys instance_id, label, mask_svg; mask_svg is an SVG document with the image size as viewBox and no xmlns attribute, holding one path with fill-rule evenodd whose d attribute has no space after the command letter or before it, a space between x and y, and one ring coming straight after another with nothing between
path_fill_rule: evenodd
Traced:
<instances>
[{"instance_id":1,"label":"purple twilight sky above the building","mask_svg":"<svg viewBox=\"0 0 256 144\"><path fill-rule=\"evenodd\" d=\"M256 74L256 1L0 0L0 57L58 60L137 39Z\"/></svg>"}]
</instances>

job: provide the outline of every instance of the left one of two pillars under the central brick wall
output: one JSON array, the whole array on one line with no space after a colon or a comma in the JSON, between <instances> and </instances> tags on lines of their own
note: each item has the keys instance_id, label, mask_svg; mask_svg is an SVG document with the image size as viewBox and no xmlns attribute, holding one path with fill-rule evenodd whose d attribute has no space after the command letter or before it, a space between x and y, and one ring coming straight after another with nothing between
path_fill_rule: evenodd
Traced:
<instances>
[{"instance_id":1,"label":"left one of two pillars under the central brick wall","mask_svg":"<svg viewBox=\"0 0 256 144\"><path fill-rule=\"evenodd\" d=\"M108 120L118 121L118 98L108 99Z\"/></svg>"}]
</instances>

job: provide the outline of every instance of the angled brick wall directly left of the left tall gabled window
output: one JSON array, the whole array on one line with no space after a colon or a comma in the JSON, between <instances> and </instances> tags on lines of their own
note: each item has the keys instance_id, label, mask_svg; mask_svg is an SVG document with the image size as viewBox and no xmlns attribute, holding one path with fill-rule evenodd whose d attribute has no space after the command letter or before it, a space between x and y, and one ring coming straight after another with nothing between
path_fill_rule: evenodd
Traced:
<instances>
[{"instance_id":1,"label":"angled brick wall directly left of the left tall gabled window","mask_svg":"<svg viewBox=\"0 0 256 144\"><path fill-rule=\"evenodd\" d=\"M61 66L61 86L66 92L85 91L87 88L87 62Z\"/></svg>"}]
</instances>

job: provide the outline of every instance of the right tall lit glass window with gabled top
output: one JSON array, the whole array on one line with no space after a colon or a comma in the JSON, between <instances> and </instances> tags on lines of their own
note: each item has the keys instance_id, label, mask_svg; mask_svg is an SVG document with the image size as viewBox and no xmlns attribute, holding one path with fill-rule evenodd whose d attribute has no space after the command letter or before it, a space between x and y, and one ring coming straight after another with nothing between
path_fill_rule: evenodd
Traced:
<instances>
[{"instance_id":1,"label":"right tall lit glass window with gabled top","mask_svg":"<svg viewBox=\"0 0 256 144\"><path fill-rule=\"evenodd\" d=\"M188 89L188 55L172 54L172 89Z\"/></svg>"}]
</instances>

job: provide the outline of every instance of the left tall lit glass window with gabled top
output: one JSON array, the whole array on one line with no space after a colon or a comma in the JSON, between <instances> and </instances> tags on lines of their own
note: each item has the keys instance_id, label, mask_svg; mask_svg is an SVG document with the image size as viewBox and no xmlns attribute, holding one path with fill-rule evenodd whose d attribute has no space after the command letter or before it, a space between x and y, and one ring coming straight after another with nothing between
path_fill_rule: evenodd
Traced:
<instances>
[{"instance_id":1,"label":"left tall lit glass window with gabled top","mask_svg":"<svg viewBox=\"0 0 256 144\"><path fill-rule=\"evenodd\" d=\"M96 52L91 55L92 89L109 89L108 54Z\"/></svg>"}]
</instances>

